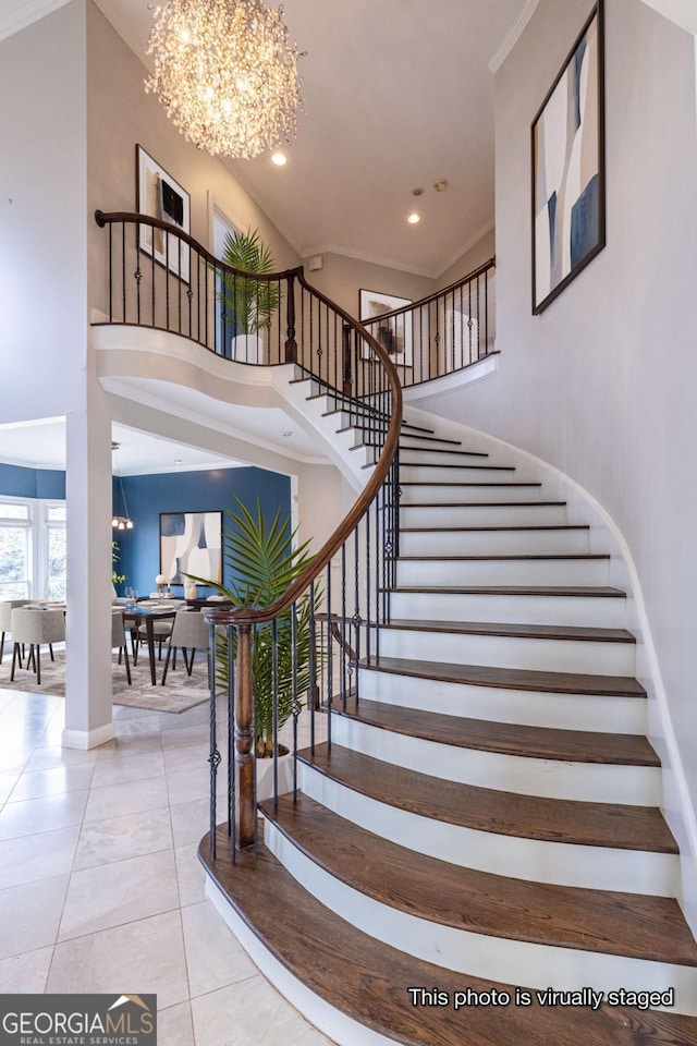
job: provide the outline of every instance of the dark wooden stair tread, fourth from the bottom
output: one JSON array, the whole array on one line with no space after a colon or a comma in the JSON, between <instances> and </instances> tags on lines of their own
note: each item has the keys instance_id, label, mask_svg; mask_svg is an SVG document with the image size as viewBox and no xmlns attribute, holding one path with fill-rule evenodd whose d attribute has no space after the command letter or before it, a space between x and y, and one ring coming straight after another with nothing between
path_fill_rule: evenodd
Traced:
<instances>
[{"instance_id":1,"label":"dark wooden stair tread, fourth from the bottom","mask_svg":"<svg viewBox=\"0 0 697 1046\"><path fill-rule=\"evenodd\" d=\"M332 711L359 722L438 744L479 752L496 752L534 759L564 763L602 763L611 766L660 766L661 761L645 737L631 733L594 733L514 722L493 722L406 708L355 696L343 709L334 701Z\"/></svg>"}]
</instances>

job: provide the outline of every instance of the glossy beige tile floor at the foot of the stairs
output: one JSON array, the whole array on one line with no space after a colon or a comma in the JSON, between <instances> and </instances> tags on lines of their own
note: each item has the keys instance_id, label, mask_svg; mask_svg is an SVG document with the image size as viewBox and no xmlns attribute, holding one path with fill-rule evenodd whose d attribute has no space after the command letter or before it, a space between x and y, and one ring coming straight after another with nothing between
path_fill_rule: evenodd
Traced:
<instances>
[{"instance_id":1,"label":"glossy beige tile floor at the foot of the stairs","mask_svg":"<svg viewBox=\"0 0 697 1046\"><path fill-rule=\"evenodd\" d=\"M62 749L61 698L0 689L0 993L157 993L161 1046L327 1046L205 898L207 707L114 722Z\"/></svg>"}]
</instances>

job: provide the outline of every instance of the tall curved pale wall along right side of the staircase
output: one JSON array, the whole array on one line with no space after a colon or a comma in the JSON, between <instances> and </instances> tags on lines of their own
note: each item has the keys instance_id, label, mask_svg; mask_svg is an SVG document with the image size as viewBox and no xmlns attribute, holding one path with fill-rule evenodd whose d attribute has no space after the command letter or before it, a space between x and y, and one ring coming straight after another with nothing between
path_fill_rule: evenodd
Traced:
<instances>
[{"instance_id":1,"label":"tall curved pale wall along right side of the staircase","mask_svg":"<svg viewBox=\"0 0 697 1046\"><path fill-rule=\"evenodd\" d=\"M694 804L695 46L645 4L607 0L608 245L535 317L530 122L590 7L541 0L496 76L501 370L440 410L551 462L616 522L638 570L662 674L668 717L652 717L652 735L670 761L674 731ZM660 692L660 678L653 682ZM697 921L697 900L686 902Z\"/></svg>"}]
</instances>

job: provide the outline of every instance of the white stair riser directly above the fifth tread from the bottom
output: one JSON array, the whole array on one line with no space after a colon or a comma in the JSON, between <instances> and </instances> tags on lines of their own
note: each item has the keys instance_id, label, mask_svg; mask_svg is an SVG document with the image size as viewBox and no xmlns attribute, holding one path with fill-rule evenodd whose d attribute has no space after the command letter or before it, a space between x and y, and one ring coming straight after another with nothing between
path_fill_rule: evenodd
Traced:
<instances>
[{"instance_id":1,"label":"white stair riser directly above the fifth tread from the bottom","mask_svg":"<svg viewBox=\"0 0 697 1046\"><path fill-rule=\"evenodd\" d=\"M592 671L601 676L633 676L635 653L634 643L469 635L399 628L384 628L380 632L381 657L545 672Z\"/></svg>"}]
</instances>

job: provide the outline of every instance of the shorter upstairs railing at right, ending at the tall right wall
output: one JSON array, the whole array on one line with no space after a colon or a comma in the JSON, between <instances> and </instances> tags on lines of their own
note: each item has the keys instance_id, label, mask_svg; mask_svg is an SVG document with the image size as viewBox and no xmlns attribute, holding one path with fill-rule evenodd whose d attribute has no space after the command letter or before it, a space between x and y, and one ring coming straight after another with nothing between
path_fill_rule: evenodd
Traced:
<instances>
[{"instance_id":1,"label":"shorter upstairs railing at right, ending at the tall right wall","mask_svg":"<svg viewBox=\"0 0 697 1046\"><path fill-rule=\"evenodd\" d=\"M462 370L494 351L496 260L428 297L362 323L388 352L403 387Z\"/></svg>"}]
</instances>

